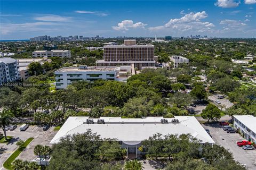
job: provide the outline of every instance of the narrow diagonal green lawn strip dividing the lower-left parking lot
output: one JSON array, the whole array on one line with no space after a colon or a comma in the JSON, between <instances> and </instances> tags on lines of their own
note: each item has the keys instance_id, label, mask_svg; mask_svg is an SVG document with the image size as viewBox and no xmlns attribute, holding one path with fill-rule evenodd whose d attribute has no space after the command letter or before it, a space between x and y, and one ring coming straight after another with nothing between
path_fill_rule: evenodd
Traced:
<instances>
[{"instance_id":1,"label":"narrow diagonal green lawn strip dividing the lower-left parking lot","mask_svg":"<svg viewBox=\"0 0 256 170\"><path fill-rule=\"evenodd\" d=\"M33 140L34 138L28 138L25 142L24 145L17 150L13 152L13 154L4 162L3 166L5 169L13 169L12 168L12 162L15 160L20 153L29 145L29 143Z\"/></svg>"}]
</instances>

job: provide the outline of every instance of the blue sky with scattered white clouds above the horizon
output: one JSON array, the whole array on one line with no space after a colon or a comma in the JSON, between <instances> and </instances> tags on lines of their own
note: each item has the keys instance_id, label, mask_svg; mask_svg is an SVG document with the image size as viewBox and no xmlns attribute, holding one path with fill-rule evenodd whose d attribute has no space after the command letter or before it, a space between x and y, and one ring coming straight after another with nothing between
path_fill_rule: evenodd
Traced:
<instances>
[{"instance_id":1,"label":"blue sky with scattered white clouds above the horizon","mask_svg":"<svg viewBox=\"0 0 256 170\"><path fill-rule=\"evenodd\" d=\"M0 1L0 39L256 37L256 0Z\"/></svg>"}]
</instances>

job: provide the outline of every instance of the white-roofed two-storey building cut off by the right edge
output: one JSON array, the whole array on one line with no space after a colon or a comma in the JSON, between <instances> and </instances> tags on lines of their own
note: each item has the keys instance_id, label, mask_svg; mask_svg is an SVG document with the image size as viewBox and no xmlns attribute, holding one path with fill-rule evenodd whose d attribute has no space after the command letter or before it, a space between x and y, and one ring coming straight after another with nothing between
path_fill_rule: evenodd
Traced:
<instances>
[{"instance_id":1,"label":"white-roofed two-storey building cut off by the right edge","mask_svg":"<svg viewBox=\"0 0 256 170\"><path fill-rule=\"evenodd\" d=\"M239 129L243 137L256 142L256 117L253 115L234 115L234 126Z\"/></svg>"}]
</instances>

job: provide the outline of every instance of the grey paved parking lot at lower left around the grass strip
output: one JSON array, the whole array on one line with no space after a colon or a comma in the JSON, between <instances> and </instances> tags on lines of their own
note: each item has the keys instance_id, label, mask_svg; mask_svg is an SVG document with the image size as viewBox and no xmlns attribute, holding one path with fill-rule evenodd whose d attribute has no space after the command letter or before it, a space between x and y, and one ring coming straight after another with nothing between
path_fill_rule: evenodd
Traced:
<instances>
[{"instance_id":1,"label":"grey paved parking lot at lower left around the grass strip","mask_svg":"<svg viewBox=\"0 0 256 170\"><path fill-rule=\"evenodd\" d=\"M13 139L9 143L0 143L1 154L0 154L0 169L3 169L3 163L5 160L18 148L15 144L18 140L27 140L28 138L33 137L34 140L27 146L26 150L21 152L19 155L19 159L23 160L32 160L35 158L34 148L36 145L49 145L50 141L57 133L57 131L53 131L54 127L51 127L47 131L43 131L43 127L39 126L29 126L29 128L21 132L19 130L20 126L18 126L14 131L6 131L6 134L12 136ZM2 129L1 132L3 133Z\"/></svg>"}]
</instances>

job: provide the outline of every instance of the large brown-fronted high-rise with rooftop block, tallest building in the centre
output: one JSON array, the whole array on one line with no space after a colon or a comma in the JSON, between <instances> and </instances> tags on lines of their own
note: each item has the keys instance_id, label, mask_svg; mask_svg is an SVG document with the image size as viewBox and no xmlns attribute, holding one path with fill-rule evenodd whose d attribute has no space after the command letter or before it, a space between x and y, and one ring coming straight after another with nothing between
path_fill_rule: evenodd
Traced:
<instances>
[{"instance_id":1,"label":"large brown-fronted high-rise with rooftop block, tallest building in the centre","mask_svg":"<svg viewBox=\"0 0 256 170\"><path fill-rule=\"evenodd\" d=\"M97 66L132 65L154 67L154 45L136 45L136 40L124 40L123 45L103 46L103 60L96 61Z\"/></svg>"}]
</instances>

